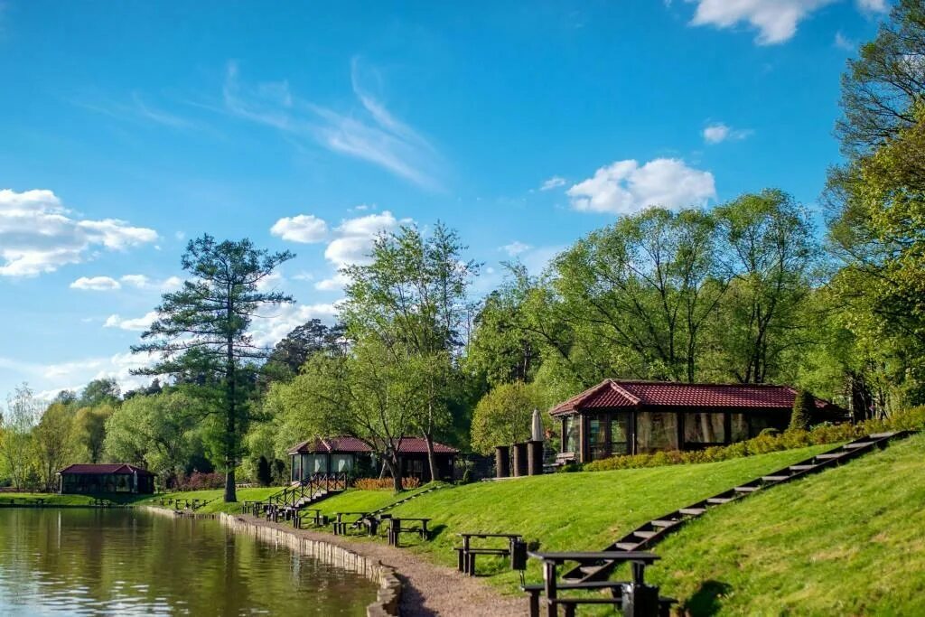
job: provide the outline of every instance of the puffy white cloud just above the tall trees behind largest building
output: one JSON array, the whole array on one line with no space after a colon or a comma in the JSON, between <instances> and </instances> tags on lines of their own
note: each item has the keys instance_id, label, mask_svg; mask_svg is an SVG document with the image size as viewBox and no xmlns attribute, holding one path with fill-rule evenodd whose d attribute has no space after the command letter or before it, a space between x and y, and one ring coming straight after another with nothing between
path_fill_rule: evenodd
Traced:
<instances>
[{"instance_id":1,"label":"puffy white cloud just above the tall trees behind largest building","mask_svg":"<svg viewBox=\"0 0 925 617\"><path fill-rule=\"evenodd\" d=\"M657 158L641 167L628 159L599 168L567 193L575 210L626 215L651 205L703 205L716 197L716 187L713 174L687 167L680 159Z\"/></svg>"}]
</instances>

